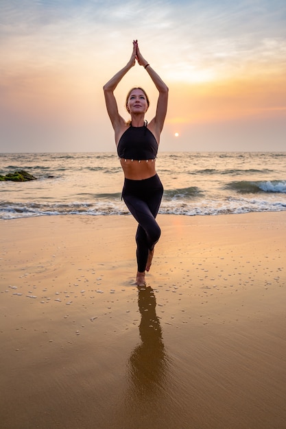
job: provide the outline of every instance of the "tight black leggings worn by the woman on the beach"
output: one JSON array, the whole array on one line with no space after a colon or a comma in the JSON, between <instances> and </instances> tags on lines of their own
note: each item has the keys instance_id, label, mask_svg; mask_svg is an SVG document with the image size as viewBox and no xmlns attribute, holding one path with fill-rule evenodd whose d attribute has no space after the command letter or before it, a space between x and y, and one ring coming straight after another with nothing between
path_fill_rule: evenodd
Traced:
<instances>
[{"instance_id":1,"label":"tight black leggings worn by the woman on the beach","mask_svg":"<svg viewBox=\"0 0 286 429\"><path fill-rule=\"evenodd\" d=\"M160 238L160 227L156 222L163 185L158 174L144 180L124 180L122 198L133 217L139 223L136 232L136 257L140 273L146 269L149 250L154 249Z\"/></svg>"}]
</instances>

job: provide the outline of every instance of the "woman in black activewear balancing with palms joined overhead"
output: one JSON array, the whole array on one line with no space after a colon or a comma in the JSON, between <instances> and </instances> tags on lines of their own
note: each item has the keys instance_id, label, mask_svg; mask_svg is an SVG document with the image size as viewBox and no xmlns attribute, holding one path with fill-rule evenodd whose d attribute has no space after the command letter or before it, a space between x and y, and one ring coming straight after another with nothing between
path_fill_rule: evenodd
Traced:
<instances>
[{"instance_id":1,"label":"woman in black activewear balancing with palms joined overhead","mask_svg":"<svg viewBox=\"0 0 286 429\"><path fill-rule=\"evenodd\" d=\"M131 121L121 117L114 90L136 61L149 73L159 96L155 117L147 123L145 113L149 99L142 88L132 88L126 98L126 109ZM160 133L167 113L168 88L143 58L137 40L133 41L132 56L123 69L104 85L106 108L115 130L117 153L124 173L122 197L126 206L139 223L136 232L137 273L136 284L145 284L145 271L150 270L154 246L160 237L155 218L163 195L163 186L156 174L155 161Z\"/></svg>"}]
</instances>

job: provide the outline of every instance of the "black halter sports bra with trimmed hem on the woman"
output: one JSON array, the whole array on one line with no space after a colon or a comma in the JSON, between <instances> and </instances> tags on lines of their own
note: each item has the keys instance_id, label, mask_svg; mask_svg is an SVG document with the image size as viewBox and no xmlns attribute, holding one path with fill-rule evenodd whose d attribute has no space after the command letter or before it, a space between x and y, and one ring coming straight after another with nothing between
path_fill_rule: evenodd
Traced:
<instances>
[{"instance_id":1,"label":"black halter sports bra with trimmed hem on the woman","mask_svg":"<svg viewBox=\"0 0 286 429\"><path fill-rule=\"evenodd\" d=\"M127 160L154 160L158 152L158 143L154 134L147 128L130 127L123 132L117 145L119 158Z\"/></svg>"}]
</instances>

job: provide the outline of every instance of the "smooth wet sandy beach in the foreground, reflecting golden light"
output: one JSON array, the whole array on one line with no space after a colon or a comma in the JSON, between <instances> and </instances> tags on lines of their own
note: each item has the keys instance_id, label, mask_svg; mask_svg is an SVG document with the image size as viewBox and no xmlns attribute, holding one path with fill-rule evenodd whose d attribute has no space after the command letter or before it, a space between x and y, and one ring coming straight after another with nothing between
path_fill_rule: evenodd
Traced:
<instances>
[{"instance_id":1,"label":"smooth wet sandy beach in the foreground, reflecting golden light","mask_svg":"<svg viewBox=\"0 0 286 429\"><path fill-rule=\"evenodd\" d=\"M0 427L285 428L286 212L0 222Z\"/></svg>"}]
</instances>

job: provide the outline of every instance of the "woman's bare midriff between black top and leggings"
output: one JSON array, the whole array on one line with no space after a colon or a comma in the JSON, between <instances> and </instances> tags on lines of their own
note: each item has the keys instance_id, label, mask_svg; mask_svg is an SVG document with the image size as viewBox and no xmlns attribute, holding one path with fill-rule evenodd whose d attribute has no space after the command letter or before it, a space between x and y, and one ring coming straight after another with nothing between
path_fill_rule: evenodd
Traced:
<instances>
[{"instance_id":1,"label":"woman's bare midriff between black top and leggings","mask_svg":"<svg viewBox=\"0 0 286 429\"><path fill-rule=\"evenodd\" d=\"M156 174L156 160L125 160L120 158L124 176L130 180L144 180Z\"/></svg>"}]
</instances>

